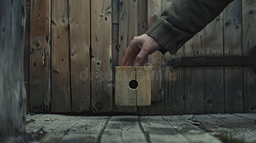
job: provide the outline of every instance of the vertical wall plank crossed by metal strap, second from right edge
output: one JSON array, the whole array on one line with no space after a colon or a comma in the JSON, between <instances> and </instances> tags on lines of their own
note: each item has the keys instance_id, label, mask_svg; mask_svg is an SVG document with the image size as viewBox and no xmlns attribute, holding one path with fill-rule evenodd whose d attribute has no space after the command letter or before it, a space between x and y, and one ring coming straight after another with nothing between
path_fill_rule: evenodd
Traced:
<instances>
[{"instance_id":1,"label":"vertical wall plank crossed by metal strap, second from right edge","mask_svg":"<svg viewBox=\"0 0 256 143\"><path fill-rule=\"evenodd\" d=\"M224 55L242 55L241 0L235 0L223 11ZM242 66L224 67L225 111L243 112Z\"/></svg>"}]
</instances>

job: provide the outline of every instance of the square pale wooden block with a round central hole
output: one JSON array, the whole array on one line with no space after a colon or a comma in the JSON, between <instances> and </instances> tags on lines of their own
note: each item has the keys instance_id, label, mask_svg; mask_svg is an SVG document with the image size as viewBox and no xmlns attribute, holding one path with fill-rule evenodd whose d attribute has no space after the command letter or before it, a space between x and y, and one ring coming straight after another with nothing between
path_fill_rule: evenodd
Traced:
<instances>
[{"instance_id":1,"label":"square pale wooden block with a round central hole","mask_svg":"<svg viewBox=\"0 0 256 143\"><path fill-rule=\"evenodd\" d=\"M150 106L151 67L116 67L117 106Z\"/></svg>"}]
</instances>

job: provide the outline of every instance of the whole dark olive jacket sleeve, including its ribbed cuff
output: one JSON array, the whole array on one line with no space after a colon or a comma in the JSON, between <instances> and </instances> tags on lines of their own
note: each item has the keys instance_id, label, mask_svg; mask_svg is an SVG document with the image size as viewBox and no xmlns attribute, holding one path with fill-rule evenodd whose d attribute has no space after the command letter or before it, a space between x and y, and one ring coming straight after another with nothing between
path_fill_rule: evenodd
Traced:
<instances>
[{"instance_id":1,"label":"whole dark olive jacket sleeve, including its ribbed cuff","mask_svg":"<svg viewBox=\"0 0 256 143\"><path fill-rule=\"evenodd\" d=\"M175 0L146 33L162 46L160 52L175 54L232 1Z\"/></svg>"}]
</instances>

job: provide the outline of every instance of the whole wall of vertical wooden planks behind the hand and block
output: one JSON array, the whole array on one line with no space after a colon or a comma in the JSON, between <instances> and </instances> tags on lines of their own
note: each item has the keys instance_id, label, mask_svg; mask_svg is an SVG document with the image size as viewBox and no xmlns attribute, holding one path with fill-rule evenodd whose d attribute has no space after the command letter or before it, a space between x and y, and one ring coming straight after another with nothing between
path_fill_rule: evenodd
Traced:
<instances>
[{"instance_id":1,"label":"whole wall of vertical wooden planks behind the hand and block","mask_svg":"<svg viewBox=\"0 0 256 143\"><path fill-rule=\"evenodd\" d=\"M115 80L100 80L100 73L115 73L132 38L154 25L172 2L27 0L28 111L139 115L256 111L256 74L251 67L164 66L165 58L248 54L256 46L256 0L229 4L175 55L157 51L148 56L152 72L172 73L172 80L151 82L151 106L114 105ZM91 76L86 78L86 73Z\"/></svg>"}]
</instances>

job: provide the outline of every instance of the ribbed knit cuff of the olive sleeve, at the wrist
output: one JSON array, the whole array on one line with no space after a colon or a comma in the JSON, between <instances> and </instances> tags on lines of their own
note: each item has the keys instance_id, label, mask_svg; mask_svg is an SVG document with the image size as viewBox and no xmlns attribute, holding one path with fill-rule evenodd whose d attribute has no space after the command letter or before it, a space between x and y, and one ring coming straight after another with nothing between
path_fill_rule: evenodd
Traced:
<instances>
[{"instance_id":1,"label":"ribbed knit cuff of the olive sleeve, at the wrist","mask_svg":"<svg viewBox=\"0 0 256 143\"><path fill-rule=\"evenodd\" d=\"M166 53L167 50L171 54L175 54L191 37L191 35L174 28L162 17L157 19L156 24L153 25L146 34L154 38L156 42L162 46L163 49L159 49L159 51L163 54Z\"/></svg>"}]
</instances>

